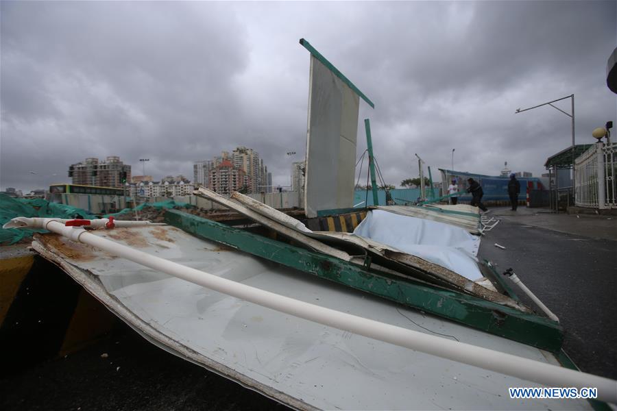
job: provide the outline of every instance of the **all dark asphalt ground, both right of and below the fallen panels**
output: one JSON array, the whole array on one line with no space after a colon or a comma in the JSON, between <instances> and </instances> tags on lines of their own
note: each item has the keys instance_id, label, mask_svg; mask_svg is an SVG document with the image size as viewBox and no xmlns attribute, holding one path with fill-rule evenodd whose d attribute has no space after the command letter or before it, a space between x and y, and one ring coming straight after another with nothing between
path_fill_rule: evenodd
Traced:
<instances>
[{"instance_id":1,"label":"all dark asphalt ground, both right of and below the fallen panels","mask_svg":"<svg viewBox=\"0 0 617 411\"><path fill-rule=\"evenodd\" d=\"M494 243L506 247L494 247ZM502 221L480 256L512 267L559 316L583 371L617 378L617 242ZM516 286L515 286L516 287ZM516 289L516 288L515 288ZM107 358L101 358L107 353ZM119 368L118 368L119 367ZM147 343L125 325L66 358L0 377L1 410L285 410Z\"/></svg>"}]
</instances>

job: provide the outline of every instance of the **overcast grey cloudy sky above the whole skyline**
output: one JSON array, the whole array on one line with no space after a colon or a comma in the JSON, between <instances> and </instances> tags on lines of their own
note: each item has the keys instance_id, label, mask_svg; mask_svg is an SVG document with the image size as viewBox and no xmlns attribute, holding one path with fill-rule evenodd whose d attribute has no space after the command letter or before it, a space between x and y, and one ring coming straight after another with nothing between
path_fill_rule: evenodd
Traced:
<instances>
[{"instance_id":1,"label":"overcast grey cloudy sky above the whole skyline","mask_svg":"<svg viewBox=\"0 0 617 411\"><path fill-rule=\"evenodd\" d=\"M459 171L543 173L570 119L516 108L574 93L581 143L617 114L615 1L1 1L0 16L1 190L69 182L70 164L108 155L192 180L194 161L238 145L289 185L306 152L300 38L375 103L361 101L356 157L370 118L396 186L418 176L414 153L435 175L453 148Z\"/></svg>"}]
</instances>

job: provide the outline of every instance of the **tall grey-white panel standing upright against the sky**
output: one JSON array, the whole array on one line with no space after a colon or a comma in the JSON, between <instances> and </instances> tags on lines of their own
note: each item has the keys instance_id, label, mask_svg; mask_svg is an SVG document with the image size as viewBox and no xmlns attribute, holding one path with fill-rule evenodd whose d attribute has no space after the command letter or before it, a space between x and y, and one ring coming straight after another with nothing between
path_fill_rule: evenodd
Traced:
<instances>
[{"instance_id":1,"label":"tall grey-white panel standing upright against the sky","mask_svg":"<svg viewBox=\"0 0 617 411\"><path fill-rule=\"evenodd\" d=\"M359 97L311 55L304 210L351 208L354 203Z\"/></svg>"}]
</instances>

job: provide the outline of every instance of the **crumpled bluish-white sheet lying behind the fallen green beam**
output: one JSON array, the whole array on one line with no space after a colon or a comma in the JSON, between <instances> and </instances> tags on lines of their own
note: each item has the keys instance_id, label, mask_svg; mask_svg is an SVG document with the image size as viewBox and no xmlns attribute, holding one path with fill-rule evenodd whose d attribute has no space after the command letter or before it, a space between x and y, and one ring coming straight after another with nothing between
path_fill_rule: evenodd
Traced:
<instances>
[{"instance_id":1,"label":"crumpled bluish-white sheet lying behind the fallen green beam","mask_svg":"<svg viewBox=\"0 0 617 411\"><path fill-rule=\"evenodd\" d=\"M424 258L472 281L483 277L476 259L480 237L461 227L372 210L354 234Z\"/></svg>"}]
</instances>

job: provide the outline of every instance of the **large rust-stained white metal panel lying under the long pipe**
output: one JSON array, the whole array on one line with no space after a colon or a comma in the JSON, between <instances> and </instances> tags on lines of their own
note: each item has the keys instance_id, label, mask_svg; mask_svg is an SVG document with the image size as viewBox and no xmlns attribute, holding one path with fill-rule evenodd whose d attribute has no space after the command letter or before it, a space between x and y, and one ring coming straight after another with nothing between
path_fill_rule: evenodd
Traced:
<instances>
[{"instance_id":1,"label":"large rust-stained white metal panel lying under the long pipe","mask_svg":"<svg viewBox=\"0 0 617 411\"><path fill-rule=\"evenodd\" d=\"M198 240L173 227L94 233L295 299L537 361L556 362L550 353L534 347L400 308ZM582 400L511 400L508 387L538 385L256 306L58 236L43 236L35 247L149 339L295 408L590 408Z\"/></svg>"}]
</instances>

